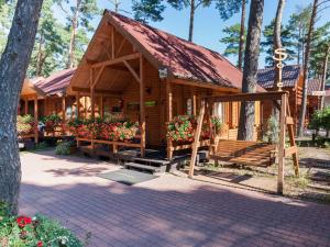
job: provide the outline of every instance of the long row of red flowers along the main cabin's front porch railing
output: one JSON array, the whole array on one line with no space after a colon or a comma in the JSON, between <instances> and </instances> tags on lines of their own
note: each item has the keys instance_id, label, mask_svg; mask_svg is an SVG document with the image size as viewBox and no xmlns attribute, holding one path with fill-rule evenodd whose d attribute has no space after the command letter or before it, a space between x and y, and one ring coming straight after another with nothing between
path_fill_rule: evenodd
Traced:
<instances>
[{"instance_id":1,"label":"long row of red flowers along the main cabin's front porch railing","mask_svg":"<svg viewBox=\"0 0 330 247\"><path fill-rule=\"evenodd\" d=\"M114 121L114 122L112 122ZM68 123L74 136L89 139L131 142L139 133L139 124L128 120L97 119L95 121L74 120Z\"/></svg>"}]
</instances>

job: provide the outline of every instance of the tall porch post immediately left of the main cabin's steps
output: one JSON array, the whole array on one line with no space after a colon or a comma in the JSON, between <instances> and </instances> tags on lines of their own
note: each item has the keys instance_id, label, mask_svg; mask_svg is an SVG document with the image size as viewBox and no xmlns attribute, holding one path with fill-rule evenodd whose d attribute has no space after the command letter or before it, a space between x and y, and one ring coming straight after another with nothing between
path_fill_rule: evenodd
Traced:
<instances>
[{"instance_id":1,"label":"tall porch post immediately left of the main cabin's steps","mask_svg":"<svg viewBox=\"0 0 330 247\"><path fill-rule=\"evenodd\" d=\"M144 63L140 56L140 128L141 128L141 157L145 156L145 103L144 103Z\"/></svg>"}]
</instances>

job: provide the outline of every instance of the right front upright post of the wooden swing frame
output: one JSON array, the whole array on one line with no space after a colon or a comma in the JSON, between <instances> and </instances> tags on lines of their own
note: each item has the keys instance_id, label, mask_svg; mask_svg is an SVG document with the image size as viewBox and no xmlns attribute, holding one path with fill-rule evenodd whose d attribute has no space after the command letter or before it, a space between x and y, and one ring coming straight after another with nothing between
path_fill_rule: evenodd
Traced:
<instances>
[{"instance_id":1,"label":"right front upright post of the wooden swing frame","mask_svg":"<svg viewBox=\"0 0 330 247\"><path fill-rule=\"evenodd\" d=\"M279 113L278 175L277 175L277 192L279 194L283 194L283 188L284 188L286 109L287 109L287 94L284 93L280 100L280 113Z\"/></svg>"}]
</instances>

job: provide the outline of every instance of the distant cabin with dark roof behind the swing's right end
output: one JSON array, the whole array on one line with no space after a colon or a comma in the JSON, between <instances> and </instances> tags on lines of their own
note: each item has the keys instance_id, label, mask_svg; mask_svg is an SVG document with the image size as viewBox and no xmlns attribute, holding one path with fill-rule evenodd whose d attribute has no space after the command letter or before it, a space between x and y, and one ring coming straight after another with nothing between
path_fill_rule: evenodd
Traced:
<instances>
[{"instance_id":1,"label":"distant cabin with dark roof behind the swing's right end","mask_svg":"<svg viewBox=\"0 0 330 247\"><path fill-rule=\"evenodd\" d=\"M299 122L299 111L302 98L302 69L298 65L286 65L282 72L283 90L289 92L288 101L292 116L295 120L295 130ZM274 67L260 69L257 71L257 83L267 91L275 91L275 69ZM272 102L263 102L262 105L262 122L266 121L272 115Z\"/></svg>"}]
</instances>

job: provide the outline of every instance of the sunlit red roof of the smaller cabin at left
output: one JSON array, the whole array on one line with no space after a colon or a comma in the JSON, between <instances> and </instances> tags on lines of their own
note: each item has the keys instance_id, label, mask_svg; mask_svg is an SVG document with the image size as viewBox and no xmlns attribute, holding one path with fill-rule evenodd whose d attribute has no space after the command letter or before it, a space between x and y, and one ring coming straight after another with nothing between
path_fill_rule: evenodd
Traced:
<instances>
[{"instance_id":1,"label":"sunlit red roof of the smaller cabin at left","mask_svg":"<svg viewBox=\"0 0 330 247\"><path fill-rule=\"evenodd\" d=\"M44 91L47 96L65 93L70 80L76 71L76 68L64 69L52 74L44 79L35 80L34 85Z\"/></svg>"}]
</instances>

